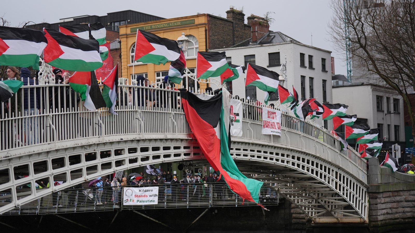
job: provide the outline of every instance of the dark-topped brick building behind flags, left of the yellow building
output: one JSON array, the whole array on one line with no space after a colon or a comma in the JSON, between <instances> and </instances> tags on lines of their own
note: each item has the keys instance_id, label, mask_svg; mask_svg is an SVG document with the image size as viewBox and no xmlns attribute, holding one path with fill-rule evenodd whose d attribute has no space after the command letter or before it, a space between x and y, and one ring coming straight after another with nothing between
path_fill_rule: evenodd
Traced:
<instances>
[{"instance_id":1,"label":"dark-topped brick building behind flags, left of the yellow building","mask_svg":"<svg viewBox=\"0 0 415 233\"><path fill-rule=\"evenodd\" d=\"M164 18L145 14L142 12L137 12L134 10L124 10L118 12L111 12L104 16L82 15L76 17L63 18L59 19L59 22L57 23L43 22L40 24L32 24L28 27L32 27L38 30L42 30L43 28L59 30L59 25L69 26L82 23L101 22L105 26L105 29L107 29L107 37L105 39L107 41L110 41L110 54L114 59L113 64L117 64L120 62L120 44L118 42L120 37L119 26L154 21L159 19ZM119 69L118 75L121 77L121 69Z\"/></svg>"}]
</instances>

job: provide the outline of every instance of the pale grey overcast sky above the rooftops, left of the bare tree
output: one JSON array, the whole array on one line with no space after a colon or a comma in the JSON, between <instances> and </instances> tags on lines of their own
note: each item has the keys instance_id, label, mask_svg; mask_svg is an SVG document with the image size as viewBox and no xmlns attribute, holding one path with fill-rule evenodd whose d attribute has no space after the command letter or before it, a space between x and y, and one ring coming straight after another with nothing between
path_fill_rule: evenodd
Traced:
<instances>
[{"instance_id":1,"label":"pale grey overcast sky above the rooftops, left of the bare tree","mask_svg":"<svg viewBox=\"0 0 415 233\"><path fill-rule=\"evenodd\" d=\"M186 2L181 4L181 2ZM208 1L85 1L85 0L7 0L2 2L0 16L17 27L22 22L56 23L61 18L80 15L107 15L109 12L135 10L164 18L195 15L196 12L208 13L226 18L226 11L233 5L246 17L251 14L263 17L268 11L275 12L271 17L275 22L270 30L280 31L303 44L332 51L337 74L346 74L342 54L337 53L329 42L327 25L330 24L332 10L330 0L208 0ZM312 36L311 36L312 34ZM282 58L281 58L282 59Z\"/></svg>"}]
</instances>

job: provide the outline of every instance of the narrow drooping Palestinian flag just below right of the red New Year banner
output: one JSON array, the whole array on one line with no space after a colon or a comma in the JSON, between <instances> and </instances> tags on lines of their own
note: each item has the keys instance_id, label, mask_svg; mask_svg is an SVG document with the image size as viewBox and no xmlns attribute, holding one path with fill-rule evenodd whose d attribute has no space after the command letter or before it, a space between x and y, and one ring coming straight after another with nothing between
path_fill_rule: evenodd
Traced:
<instances>
[{"instance_id":1,"label":"narrow drooping Palestinian flag just below right of the red New Year banner","mask_svg":"<svg viewBox=\"0 0 415 233\"><path fill-rule=\"evenodd\" d=\"M111 70L107 78L102 82L104 84L103 88L103 98L107 108L110 109L112 114L118 115L115 109L115 103L117 101L117 89L118 89L118 64Z\"/></svg>"}]
</instances>

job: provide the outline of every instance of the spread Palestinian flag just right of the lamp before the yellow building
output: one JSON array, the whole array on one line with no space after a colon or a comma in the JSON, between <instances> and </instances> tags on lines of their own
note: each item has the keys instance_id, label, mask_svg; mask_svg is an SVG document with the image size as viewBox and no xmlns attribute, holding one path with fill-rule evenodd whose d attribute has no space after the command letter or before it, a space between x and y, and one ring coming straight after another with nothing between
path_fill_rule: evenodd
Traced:
<instances>
[{"instance_id":1,"label":"spread Palestinian flag just right of the lamp before the yellow building","mask_svg":"<svg viewBox=\"0 0 415 233\"><path fill-rule=\"evenodd\" d=\"M229 68L225 52L198 52L196 78L218 77Z\"/></svg>"}]
</instances>

